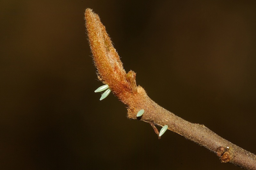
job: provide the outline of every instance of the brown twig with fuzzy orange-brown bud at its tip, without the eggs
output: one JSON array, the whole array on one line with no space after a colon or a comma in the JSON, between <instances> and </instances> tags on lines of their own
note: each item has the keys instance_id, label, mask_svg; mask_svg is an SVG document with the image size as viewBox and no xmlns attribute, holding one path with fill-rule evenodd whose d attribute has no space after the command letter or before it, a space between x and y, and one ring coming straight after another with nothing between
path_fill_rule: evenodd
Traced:
<instances>
[{"instance_id":1,"label":"brown twig with fuzzy orange-brown bud at its tip, without the eggs","mask_svg":"<svg viewBox=\"0 0 256 170\"><path fill-rule=\"evenodd\" d=\"M140 120L153 125L153 128L154 124L159 126L167 124L170 131L215 152L221 162L256 170L256 155L221 138L204 125L190 123L174 115L151 100L145 90L136 85L136 74L133 71L125 72L123 63L99 16L88 8L85 11L85 20L98 78L108 84L114 95L128 106L129 119L137 119L137 112L144 109L145 113Z\"/></svg>"}]
</instances>

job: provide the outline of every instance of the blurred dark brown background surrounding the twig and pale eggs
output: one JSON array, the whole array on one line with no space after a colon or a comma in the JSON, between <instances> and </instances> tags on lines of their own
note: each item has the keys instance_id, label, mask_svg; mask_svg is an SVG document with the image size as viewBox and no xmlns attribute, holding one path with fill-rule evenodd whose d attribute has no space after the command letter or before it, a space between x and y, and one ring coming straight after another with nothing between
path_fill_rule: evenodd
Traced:
<instances>
[{"instance_id":1,"label":"blurred dark brown background surrounding the twig and pale eggs","mask_svg":"<svg viewBox=\"0 0 256 170\"><path fill-rule=\"evenodd\" d=\"M0 169L240 169L99 101L84 11L158 104L255 153L255 1L0 2Z\"/></svg>"}]
</instances>

